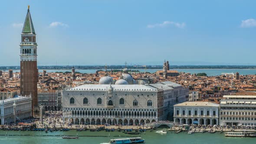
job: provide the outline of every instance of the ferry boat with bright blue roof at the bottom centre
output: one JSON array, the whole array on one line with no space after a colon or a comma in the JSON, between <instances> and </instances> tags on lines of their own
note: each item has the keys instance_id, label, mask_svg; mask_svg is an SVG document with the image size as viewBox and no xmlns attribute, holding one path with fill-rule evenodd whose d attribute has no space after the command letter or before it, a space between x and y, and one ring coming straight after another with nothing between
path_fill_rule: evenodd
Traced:
<instances>
[{"instance_id":1,"label":"ferry boat with bright blue roof at the bottom centre","mask_svg":"<svg viewBox=\"0 0 256 144\"><path fill-rule=\"evenodd\" d=\"M108 144L138 144L144 141L141 137L117 138L111 139Z\"/></svg>"}]
</instances>

